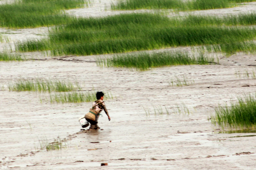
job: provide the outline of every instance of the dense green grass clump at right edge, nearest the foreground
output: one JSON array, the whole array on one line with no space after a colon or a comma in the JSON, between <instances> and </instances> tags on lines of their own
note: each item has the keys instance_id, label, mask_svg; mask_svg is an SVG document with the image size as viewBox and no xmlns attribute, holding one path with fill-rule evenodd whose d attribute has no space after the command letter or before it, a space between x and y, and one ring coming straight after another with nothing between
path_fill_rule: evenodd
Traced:
<instances>
[{"instance_id":1,"label":"dense green grass clump at right edge, nearest the foreground","mask_svg":"<svg viewBox=\"0 0 256 170\"><path fill-rule=\"evenodd\" d=\"M237 103L231 106L220 106L211 117L212 123L220 125L222 129L246 128L250 129L256 125L256 96L250 95L239 98Z\"/></svg>"}]
</instances>

